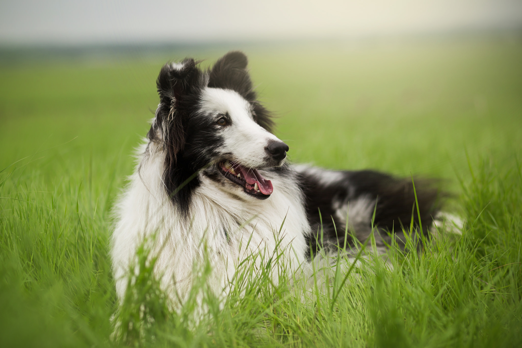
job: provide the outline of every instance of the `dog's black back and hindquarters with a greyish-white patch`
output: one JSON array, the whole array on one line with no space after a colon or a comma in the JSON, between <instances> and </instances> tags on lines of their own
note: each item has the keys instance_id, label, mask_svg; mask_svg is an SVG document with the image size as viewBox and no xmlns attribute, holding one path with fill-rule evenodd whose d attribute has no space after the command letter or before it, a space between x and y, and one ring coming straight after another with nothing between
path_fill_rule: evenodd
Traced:
<instances>
[{"instance_id":1,"label":"dog's black back and hindquarters with a greyish-white patch","mask_svg":"<svg viewBox=\"0 0 522 348\"><path fill-rule=\"evenodd\" d=\"M320 231L322 247L343 245L347 222L348 231L360 242L372 231L377 232L377 247L390 243L388 233L395 233L401 245L411 219L415 227L422 224L422 232L429 236L445 196L435 187L436 181L428 179L414 182L370 170L329 171L306 165L294 168L299 173L307 218L314 231L308 238L312 252L320 247ZM348 245L353 242L347 241Z\"/></svg>"}]
</instances>

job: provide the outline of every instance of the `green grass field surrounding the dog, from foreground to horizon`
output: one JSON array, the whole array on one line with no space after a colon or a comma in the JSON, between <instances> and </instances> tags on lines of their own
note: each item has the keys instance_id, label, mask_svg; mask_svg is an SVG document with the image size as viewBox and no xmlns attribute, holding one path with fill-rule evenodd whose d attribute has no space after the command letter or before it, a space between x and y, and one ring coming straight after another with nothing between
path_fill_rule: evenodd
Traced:
<instances>
[{"instance_id":1,"label":"green grass field surrounding the dog, from foreground to horizon","mask_svg":"<svg viewBox=\"0 0 522 348\"><path fill-rule=\"evenodd\" d=\"M1 345L522 346L520 37L246 53L293 162L442 177L462 236L442 233L421 255L392 248L393 268L338 274L313 301L258 275L221 309L206 297L197 322L190 304L165 311L145 274L118 317L134 330L111 340L111 208L159 68L186 53L0 66Z\"/></svg>"}]
</instances>

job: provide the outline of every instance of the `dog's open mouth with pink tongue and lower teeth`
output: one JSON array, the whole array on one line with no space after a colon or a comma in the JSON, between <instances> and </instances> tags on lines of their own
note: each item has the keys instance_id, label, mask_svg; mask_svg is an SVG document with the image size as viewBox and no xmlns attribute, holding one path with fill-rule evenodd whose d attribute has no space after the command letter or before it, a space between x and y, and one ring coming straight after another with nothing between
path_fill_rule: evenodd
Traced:
<instances>
[{"instance_id":1,"label":"dog's open mouth with pink tongue and lower teeth","mask_svg":"<svg viewBox=\"0 0 522 348\"><path fill-rule=\"evenodd\" d=\"M258 199L270 197L274 191L270 180L266 180L256 169L241 164L223 161L218 164L221 173L234 184L242 186L245 193Z\"/></svg>"}]
</instances>

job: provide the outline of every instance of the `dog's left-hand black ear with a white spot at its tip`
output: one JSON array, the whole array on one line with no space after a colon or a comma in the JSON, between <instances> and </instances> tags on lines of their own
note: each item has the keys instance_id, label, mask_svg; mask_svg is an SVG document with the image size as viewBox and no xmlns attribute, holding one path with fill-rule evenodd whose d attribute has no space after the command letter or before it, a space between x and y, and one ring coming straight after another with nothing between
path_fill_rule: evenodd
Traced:
<instances>
[{"instance_id":1,"label":"dog's left-hand black ear with a white spot at its tip","mask_svg":"<svg viewBox=\"0 0 522 348\"><path fill-rule=\"evenodd\" d=\"M167 63L160 70L156 80L160 104L148 138L163 140L163 145L174 156L173 160L185 145L186 115L195 106L198 92L205 84L204 75L192 58L185 58L181 63Z\"/></svg>"}]
</instances>

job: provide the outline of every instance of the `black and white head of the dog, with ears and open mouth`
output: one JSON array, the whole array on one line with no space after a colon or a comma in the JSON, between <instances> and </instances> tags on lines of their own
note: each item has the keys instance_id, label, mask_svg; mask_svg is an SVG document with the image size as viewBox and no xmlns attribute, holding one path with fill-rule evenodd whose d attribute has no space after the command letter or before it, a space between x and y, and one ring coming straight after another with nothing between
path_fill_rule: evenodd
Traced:
<instances>
[{"instance_id":1,"label":"black and white head of the dog, with ears and open mouth","mask_svg":"<svg viewBox=\"0 0 522 348\"><path fill-rule=\"evenodd\" d=\"M229 52L209 70L186 58L160 71L148 138L163 147L165 188L182 208L200 184L198 172L246 199L266 199L274 190L258 169L281 166L288 146L270 133L273 123L246 66L243 53Z\"/></svg>"}]
</instances>

